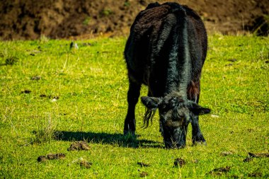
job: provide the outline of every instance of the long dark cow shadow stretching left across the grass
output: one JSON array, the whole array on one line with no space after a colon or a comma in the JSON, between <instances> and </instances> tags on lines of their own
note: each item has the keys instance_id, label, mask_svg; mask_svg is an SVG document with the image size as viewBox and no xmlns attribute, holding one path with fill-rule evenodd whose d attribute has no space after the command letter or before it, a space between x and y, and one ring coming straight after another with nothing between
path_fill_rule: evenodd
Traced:
<instances>
[{"instance_id":1,"label":"long dark cow shadow stretching left across the grass","mask_svg":"<svg viewBox=\"0 0 269 179\"><path fill-rule=\"evenodd\" d=\"M55 139L61 141L87 141L99 144L113 144L121 147L131 148L164 148L161 142L154 142L151 140L137 139L137 136L123 135L123 134L107 134L104 132L55 132Z\"/></svg>"}]
</instances>

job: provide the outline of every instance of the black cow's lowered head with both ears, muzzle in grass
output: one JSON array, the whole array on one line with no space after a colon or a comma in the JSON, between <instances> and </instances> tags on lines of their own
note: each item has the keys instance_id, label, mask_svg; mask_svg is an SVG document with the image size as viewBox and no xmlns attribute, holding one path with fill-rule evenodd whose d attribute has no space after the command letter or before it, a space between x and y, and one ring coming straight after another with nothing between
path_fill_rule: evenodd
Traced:
<instances>
[{"instance_id":1,"label":"black cow's lowered head with both ears, muzzle in grass","mask_svg":"<svg viewBox=\"0 0 269 179\"><path fill-rule=\"evenodd\" d=\"M210 109L202 108L197 103L174 94L168 94L164 98L144 96L141 100L147 107L144 118L146 123L155 110L159 109L160 131L167 148L183 148L190 120L195 115L204 115L210 112Z\"/></svg>"}]
</instances>

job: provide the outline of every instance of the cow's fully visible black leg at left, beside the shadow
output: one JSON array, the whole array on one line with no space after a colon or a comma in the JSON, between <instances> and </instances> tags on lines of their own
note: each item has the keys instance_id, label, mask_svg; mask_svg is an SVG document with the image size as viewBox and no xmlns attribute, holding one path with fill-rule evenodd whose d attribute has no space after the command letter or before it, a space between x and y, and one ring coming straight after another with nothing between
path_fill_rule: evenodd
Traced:
<instances>
[{"instance_id":1,"label":"cow's fully visible black leg at left, beside the shadow","mask_svg":"<svg viewBox=\"0 0 269 179\"><path fill-rule=\"evenodd\" d=\"M135 105L140 96L141 84L129 80L129 91L127 93L128 110L125 118L123 134L135 135Z\"/></svg>"}]
</instances>

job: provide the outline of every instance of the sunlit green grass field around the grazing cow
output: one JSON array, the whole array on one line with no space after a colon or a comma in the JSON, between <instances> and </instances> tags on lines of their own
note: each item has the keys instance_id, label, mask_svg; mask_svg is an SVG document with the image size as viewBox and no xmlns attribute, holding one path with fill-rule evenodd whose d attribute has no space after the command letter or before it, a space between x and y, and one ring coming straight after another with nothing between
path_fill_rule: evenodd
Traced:
<instances>
[{"instance_id":1,"label":"sunlit green grass field around the grazing cow","mask_svg":"<svg viewBox=\"0 0 269 179\"><path fill-rule=\"evenodd\" d=\"M269 177L268 158L243 162L248 152L268 153L269 38L209 37L200 104L207 146L164 149L158 115L137 139L123 137L127 110L126 38L0 42L0 178L260 178ZM142 88L142 95L147 88ZM67 151L86 140L89 151ZM230 151L222 156L222 151ZM38 156L66 158L38 162ZM92 162L79 166L79 158ZM173 167L183 158L183 167ZM137 162L149 163L141 167ZM210 174L229 166L228 172Z\"/></svg>"}]
</instances>

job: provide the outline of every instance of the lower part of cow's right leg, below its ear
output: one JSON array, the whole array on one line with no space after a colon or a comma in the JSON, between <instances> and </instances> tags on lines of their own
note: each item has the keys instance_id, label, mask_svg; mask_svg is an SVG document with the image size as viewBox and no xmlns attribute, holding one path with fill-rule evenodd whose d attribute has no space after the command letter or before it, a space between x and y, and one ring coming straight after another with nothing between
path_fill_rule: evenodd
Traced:
<instances>
[{"instance_id":1,"label":"lower part of cow's right leg, below its ear","mask_svg":"<svg viewBox=\"0 0 269 179\"><path fill-rule=\"evenodd\" d=\"M193 127L193 144L207 144L205 138L202 135L200 126L199 126L199 116L195 115L191 120L191 125Z\"/></svg>"}]
</instances>

